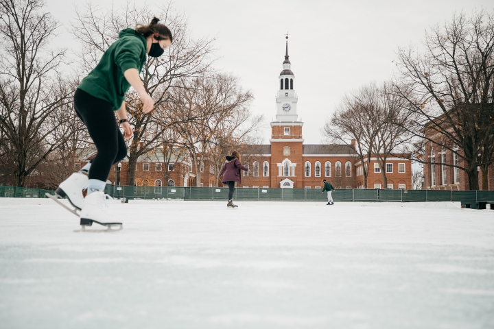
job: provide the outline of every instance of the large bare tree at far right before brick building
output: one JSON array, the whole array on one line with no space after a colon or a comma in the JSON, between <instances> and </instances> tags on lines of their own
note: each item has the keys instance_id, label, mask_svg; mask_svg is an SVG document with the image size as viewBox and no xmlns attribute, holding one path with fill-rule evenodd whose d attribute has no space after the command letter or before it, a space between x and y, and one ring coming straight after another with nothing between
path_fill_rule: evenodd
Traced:
<instances>
[{"instance_id":1,"label":"large bare tree at far right before brick building","mask_svg":"<svg viewBox=\"0 0 494 329\"><path fill-rule=\"evenodd\" d=\"M397 53L398 95L416 117L409 131L419 147L441 145L457 154L456 167L467 173L470 189L479 188L480 166L486 189L494 162L494 16L485 10L454 14L427 31L423 48ZM427 157L415 160L431 163Z\"/></svg>"}]
</instances>

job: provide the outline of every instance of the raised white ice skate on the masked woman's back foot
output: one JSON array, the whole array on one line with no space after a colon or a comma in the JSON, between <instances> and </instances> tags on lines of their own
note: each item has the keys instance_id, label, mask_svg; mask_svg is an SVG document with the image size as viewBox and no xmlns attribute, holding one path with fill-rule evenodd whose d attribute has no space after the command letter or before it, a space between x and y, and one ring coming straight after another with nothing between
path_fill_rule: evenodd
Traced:
<instances>
[{"instance_id":1,"label":"raised white ice skate on the masked woman's back foot","mask_svg":"<svg viewBox=\"0 0 494 329\"><path fill-rule=\"evenodd\" d=\"M73 173L70 175L67 180L64 180L58 188L55 191L55 195L49 195L47 193L47 196L56 201L60 206L64 207L65 209L69 210L72 212L74 215L78 216L78 211L81 210L82 206L84 205L84 195L82 195L82 190L86 188L88 183L88 176L84 173ZM65 204L62 204L58 200L58 197L64 198L67 197L69 199L69 202L71 203L72 206L75 208L72 209Z\"/></svg>"}]
</instances>

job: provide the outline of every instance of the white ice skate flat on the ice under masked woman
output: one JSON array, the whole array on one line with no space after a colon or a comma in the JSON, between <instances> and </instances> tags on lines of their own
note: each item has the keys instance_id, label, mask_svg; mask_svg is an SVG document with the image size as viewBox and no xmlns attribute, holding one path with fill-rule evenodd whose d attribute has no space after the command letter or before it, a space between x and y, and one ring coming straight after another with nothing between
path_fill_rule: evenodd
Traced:
<instances>
[{"instance_id":1,"label":"white ice skate flat on the ice under masked woman","mask_svg":"<svg viewBox=\"0 0 494 329\"><path fill-rule=\"evenodd\" d=\"M108 232L121 230L123 228L122 223L113 222L112 219L113 215L106 204L106 194L102 191L95 191L84 199L84 207L82 207L80 214L80 225L82 228L81 230L76 230L74 232ZM93 223L106 226L106 230L86 230L86 226L92 226Z\"/></svg>"}]
</instances>

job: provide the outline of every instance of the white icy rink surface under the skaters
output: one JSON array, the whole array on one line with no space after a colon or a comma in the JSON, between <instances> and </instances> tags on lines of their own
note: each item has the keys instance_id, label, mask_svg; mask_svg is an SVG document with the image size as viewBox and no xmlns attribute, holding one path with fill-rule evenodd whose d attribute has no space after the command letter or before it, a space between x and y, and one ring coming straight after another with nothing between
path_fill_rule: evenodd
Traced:
<instances>
[{"instance_id":1,"label":"white icy rink surface under the skaters","mask_svg":"<svg viewBox=\"0 0 494 329\"><path fill-rule=\"evenodd\" d=\"M0 199L0 328L494 328L494 210Z\"/></svg>"}]
</instances>

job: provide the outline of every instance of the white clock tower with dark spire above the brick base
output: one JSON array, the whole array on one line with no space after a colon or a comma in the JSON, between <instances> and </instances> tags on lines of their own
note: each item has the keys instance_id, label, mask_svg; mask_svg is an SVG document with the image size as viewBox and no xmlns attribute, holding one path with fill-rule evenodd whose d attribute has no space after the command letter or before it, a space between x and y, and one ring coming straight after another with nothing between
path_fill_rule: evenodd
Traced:
<instances>
[{"instance_id":1,"label":"white clock tower with dark spire above the brick base","mask_svg":"<svg viewBox=\"0 0 494 329\"><path fill-rule=\"evenodd\" d=\"M288 36L286 36L286 53L285 61L283 62L283 71L279 75L279 90L276 97L277 100L277 116L278 122L293 122L297 121L298 115L296 112L297 95L294 90L294 74L291 70L292 64L288 60Z\"/></svg>"}]
</instances>

